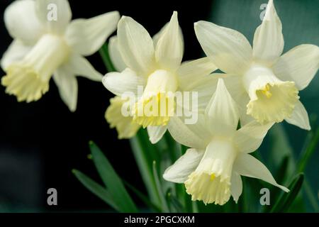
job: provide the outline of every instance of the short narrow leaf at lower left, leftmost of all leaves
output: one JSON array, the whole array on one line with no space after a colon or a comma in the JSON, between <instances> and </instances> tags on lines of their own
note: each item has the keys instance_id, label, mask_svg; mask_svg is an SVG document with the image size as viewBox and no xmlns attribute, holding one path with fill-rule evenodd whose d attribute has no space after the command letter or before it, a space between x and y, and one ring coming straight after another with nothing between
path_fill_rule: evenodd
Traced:
<instances>
[{"instance_id":1,"label":"short narrow leaf at lower left, leftmost of all leaves","mask_svg":"<svg viewBox=\"0 0 319 227\"><path fill-rule=\"evenodd\" d=\"M98 196L100 199L106 202L109 206L113 207L116 211L120 211L118 206L114 203L111 194L100 184L94 182L93 179L90 179L86 175L84 175L79 170L72 170L72 173L79 179L86 189L89 189L90 192Z\"/></svg>"}]
</instances>

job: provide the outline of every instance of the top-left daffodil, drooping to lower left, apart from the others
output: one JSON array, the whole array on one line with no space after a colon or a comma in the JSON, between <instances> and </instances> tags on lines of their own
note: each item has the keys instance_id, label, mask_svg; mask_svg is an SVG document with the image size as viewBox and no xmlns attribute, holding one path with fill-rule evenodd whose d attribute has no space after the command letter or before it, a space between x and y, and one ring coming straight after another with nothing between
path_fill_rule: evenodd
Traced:
<instances>
[{"instance_id":1,"label":"top-left daffodil, drooping to lower left, apart from the others","mask_svg":"<svg viewBox=\"0 0 319 227\"><path fill-rule=\"evenodd\" d=\"M113 11L90 19L71 18L67 0L23 0L8 6L4 22L14 40L1 59L6 93L18 101L37 101L48 91L53 75L62 100L75 111L75 75L98 82L102 78L84 56L101 48L120 16Z\"/></svg>"}]
</instances>

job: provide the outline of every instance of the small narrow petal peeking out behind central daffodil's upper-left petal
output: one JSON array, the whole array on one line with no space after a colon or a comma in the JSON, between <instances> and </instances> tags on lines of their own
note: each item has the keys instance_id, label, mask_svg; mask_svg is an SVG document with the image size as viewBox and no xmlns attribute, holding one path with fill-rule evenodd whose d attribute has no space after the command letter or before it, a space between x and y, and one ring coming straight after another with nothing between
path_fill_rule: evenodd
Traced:
<instances>
[{"instance_id":1,"label":"small narrow petal peeking out behind central daffodil's upper-left petal","mask_svg":"<svg viewBox=\"0 0 319 227\"><path fill-rule=\"evenodd\" d=\"M116 35L112 36L108 41L108 54L110 55L111 61L118 72L125 70L126 65L120 51L118 50L118 38Z\"/></svg>"}]
</instances>

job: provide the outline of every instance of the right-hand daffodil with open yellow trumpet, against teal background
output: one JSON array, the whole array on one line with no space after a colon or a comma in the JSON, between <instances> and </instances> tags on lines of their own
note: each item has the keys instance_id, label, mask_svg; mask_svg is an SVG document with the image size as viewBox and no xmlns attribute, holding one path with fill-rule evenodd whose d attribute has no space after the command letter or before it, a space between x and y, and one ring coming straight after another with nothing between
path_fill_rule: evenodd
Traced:
<instances>
[{"instance_id":1,"label":"right-hand daffodil with open yellow trumpet, against teal background","mask_svg":"<svg viewBox=\"0 0 319 227\"><path fill-rule=\"evenodd\" d=\"M233 78L225 84L232 88L228 87L237 103L245 106L240 111L241 121L249 120L248 114L259 123L286 120L310 130L298 91L306 88L318 71L319 48L298 45L281 55L284 37L272 0L254 33L253 48L241 33L214 23L198 21L195 32L206 55Z\"/></svg>"}]
</instances>

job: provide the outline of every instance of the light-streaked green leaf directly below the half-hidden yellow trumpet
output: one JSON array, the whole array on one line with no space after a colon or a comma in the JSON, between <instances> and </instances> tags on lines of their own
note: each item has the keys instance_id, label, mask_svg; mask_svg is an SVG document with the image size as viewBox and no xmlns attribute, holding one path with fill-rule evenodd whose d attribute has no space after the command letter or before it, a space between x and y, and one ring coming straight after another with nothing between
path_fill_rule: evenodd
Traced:
<instances>
[{"instance_id":1,"label":"light-streaked green leaf directly below the half-hidden yellow trumpet","mask_svg":"<svg viewBox=\"0 0 319 227\"><path fill-rule=\"evenodd\" d=\"M130 139L130 146L133 150L133 155L138 164L147 193L150 196L151 201L159 206L159 194L157 193L155 179L152 175L152 161L159 160L159 157L157 157L155 146L150 144L147 131L141 128L135 137Z\"/></svg>"}]
</instances>

